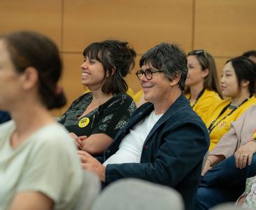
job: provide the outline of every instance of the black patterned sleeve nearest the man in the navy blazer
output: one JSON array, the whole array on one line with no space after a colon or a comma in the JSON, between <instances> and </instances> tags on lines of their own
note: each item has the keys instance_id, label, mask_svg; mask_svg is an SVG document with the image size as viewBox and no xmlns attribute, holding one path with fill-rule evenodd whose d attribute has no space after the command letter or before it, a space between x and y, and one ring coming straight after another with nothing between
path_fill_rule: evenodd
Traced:
<instances>
[{"instance_id":1,"label":"black patterned sleeve nearest the man in the navy blazer","mask_svg":"<svg viewBox=\"0 0 256 210\"><path fill-rule=\"evenodd\" d=\"M104 133L114 139L117 132L127 125L135 109L133 98L128 94L122 94L102 111L101 119L95 125L92 134Z\"/></svg>"}]
</instances>

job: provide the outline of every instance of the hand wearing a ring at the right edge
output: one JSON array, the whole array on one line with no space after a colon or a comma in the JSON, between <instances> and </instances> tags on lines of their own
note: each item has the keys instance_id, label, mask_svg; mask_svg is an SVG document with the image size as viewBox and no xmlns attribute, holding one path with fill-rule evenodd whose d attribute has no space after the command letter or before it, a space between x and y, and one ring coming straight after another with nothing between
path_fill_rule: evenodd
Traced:
<instances>
[{"instance_id":1,"label":"hand wearing a ring at the right edge","mask_svg":"<svg viewBox=\"0 0 256 210\"><path fill-rule=\"evenodd\" d=\"M256 152L256 143L254 141L250 141L244 146L238 148L238 151L235 153L236 158L236 167L239 169L243 169L246 167L246 163L248 161L248 165L252 163L252 155Z\"/></svg>"}]
</instances>

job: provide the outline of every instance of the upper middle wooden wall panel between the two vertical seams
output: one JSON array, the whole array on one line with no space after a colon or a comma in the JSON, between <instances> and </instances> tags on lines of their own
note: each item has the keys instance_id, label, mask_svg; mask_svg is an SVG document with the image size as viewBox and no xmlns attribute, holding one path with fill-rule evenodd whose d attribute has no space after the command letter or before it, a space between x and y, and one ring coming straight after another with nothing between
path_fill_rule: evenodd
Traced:
<instances>
[{"instance_id":1,"label":"upper middle wooden wall panel between the two vertical seams","mask_svg":"<svg viewBox=\"0 0 256 210\"><path fill-rule=\"evenodd\" d=\"M118 38L138 53L163 41L191 48L192 0L65 0L63 50Z\"/></svg>"}]
</instances>

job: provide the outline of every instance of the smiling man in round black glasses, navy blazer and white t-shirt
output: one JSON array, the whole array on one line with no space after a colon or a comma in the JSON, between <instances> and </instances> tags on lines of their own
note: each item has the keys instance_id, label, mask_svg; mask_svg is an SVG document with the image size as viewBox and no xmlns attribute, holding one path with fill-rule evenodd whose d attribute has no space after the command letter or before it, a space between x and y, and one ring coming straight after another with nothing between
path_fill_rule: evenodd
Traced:
<instances>
[{"instance_id":1,"label":"smiling man in round black glasses, navy blazer and white t-shirt","mask_svg":"<svg viewBox=\"0 0 256 210\"><path fill-rule=\"evenodd\" d=\"M107 148L103 165L79 151L82 167L105 184L138 178L170 186L181 193L186 209L194 209L209 136L182 93L187 57L177 45L161 43L142 56L140 67L136 75L147 103Z\"/></svg>"}]
</instances>

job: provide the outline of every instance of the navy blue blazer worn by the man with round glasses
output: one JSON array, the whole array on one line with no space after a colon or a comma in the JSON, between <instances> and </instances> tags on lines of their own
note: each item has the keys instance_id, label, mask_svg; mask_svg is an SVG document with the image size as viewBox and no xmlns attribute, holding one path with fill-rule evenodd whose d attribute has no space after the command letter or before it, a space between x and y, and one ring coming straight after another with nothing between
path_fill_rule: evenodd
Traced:
<instances>
[{"instance_id":1,"label":"navy blue blazer worn by the man with round glasses","mask_svg":"<svg viewBox=\"0 0 256 210\"><path fill-rule=\"evenodd\" d=\"M135 111L128 125L116 135L105 151L105 160L118 151L119 144L130 129L152 111L154 105L151 103ZM140 163L107 165L105 183L137 178L170 186L181 193L186 209L194 209L203 157L209 144L206 125L191 109L184 94L181 94L149 132Z\"/></svg>"}]
</instances>

